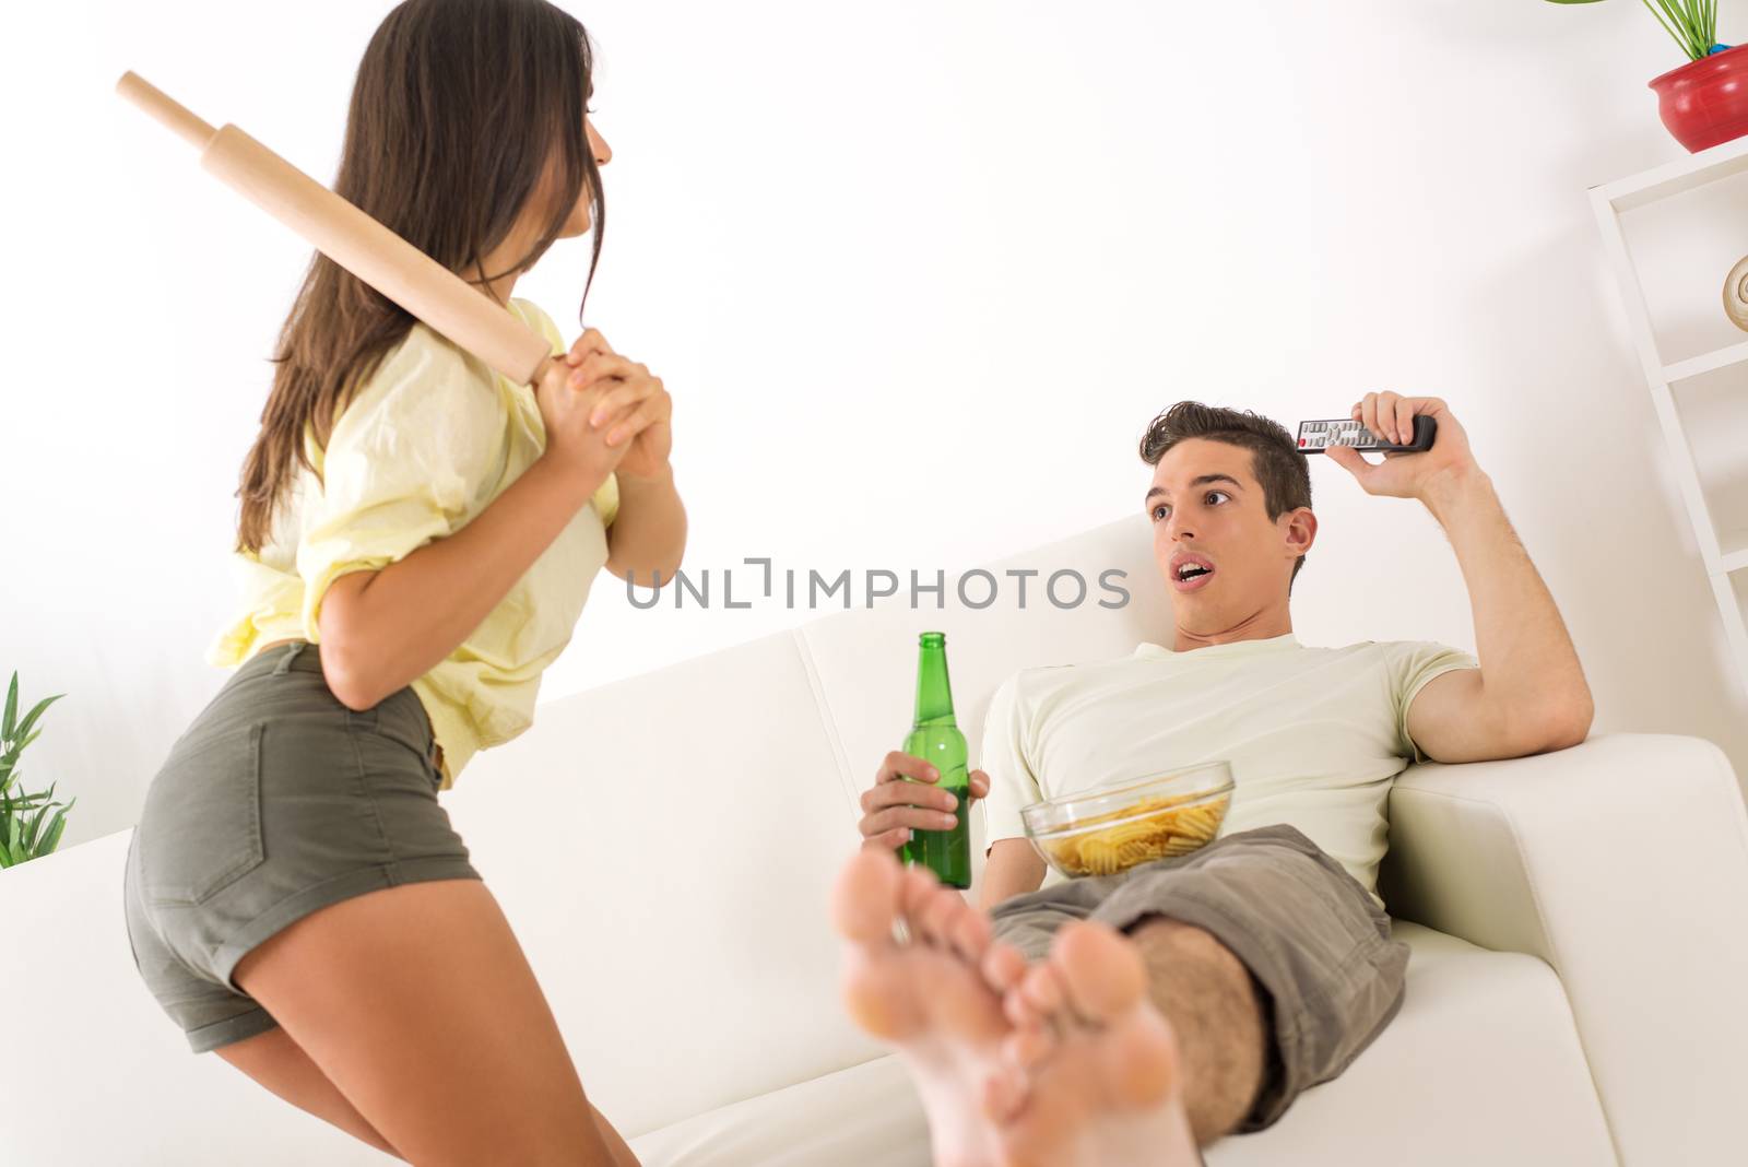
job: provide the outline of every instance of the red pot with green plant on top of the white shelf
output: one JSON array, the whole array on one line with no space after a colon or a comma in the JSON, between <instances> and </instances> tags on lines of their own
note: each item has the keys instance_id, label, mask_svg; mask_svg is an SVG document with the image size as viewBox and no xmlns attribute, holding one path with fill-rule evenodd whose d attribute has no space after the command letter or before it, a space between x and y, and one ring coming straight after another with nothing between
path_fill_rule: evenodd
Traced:
<instances>
[{"instance_id":1,"label":"red pot with green plant on top of the white shelf","mask_svg":"<svg viewBox=\"0 0 1748 1167\"><path fill-rule=\"evenodd\" d=\"M1675 140L1692 154L1748 133L1748 45L1718 44L1718 0L1643 3L1687 54L1687 65L1650 82L1657 91L1657 112Z\"/></svg>"}]
</instances>

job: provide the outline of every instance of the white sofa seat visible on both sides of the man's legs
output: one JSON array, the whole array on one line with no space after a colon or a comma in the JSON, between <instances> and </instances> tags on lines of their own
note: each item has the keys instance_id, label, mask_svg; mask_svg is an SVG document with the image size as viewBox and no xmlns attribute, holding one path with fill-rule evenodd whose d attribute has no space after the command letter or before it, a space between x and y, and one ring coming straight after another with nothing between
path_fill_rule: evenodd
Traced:
<instances>
[{"instance_id":1,"label":"white sofa seat visible on both sides of the man's legs","mask_svg":"<svg viewBox=\"0 0 1748 1167\"><path fill-rule=\"evenodd\" d=\"M1402 1012L1335 1081L1210 1167L1615 1164L1552 970L1397 922L1412 949ZM633 1141L645 1167L928 1167L921 1102L881 1057Z\"/></svg>"}]
</instances>

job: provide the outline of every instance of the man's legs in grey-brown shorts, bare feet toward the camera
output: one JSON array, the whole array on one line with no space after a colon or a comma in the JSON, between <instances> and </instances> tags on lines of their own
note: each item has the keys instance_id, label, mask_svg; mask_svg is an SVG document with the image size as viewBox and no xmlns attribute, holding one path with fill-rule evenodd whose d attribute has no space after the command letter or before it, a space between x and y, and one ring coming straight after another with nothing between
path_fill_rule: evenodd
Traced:
<instances>
[{"instance_id":1,"label":"man's legs in grey-brown shorts, bare feet toward the camera","mask_svg":"<svg viewBox=\"0 0 1748 1167\"><path fill-rule=\"evenodd\" d=\"M988 917L862 853L834 917L851 1015L905 1055L946 1167L1192 1164L1339 1074L1407 964L1369 893L1290 826Z\"/></svg>"}]
</instances>

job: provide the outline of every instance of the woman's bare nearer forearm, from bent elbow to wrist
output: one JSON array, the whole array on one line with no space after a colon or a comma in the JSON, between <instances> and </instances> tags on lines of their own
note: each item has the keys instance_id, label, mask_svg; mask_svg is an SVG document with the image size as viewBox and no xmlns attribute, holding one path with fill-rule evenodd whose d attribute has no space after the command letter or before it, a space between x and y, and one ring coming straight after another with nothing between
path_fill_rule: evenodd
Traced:
<instances>
[{"instance_id":1,"label":"woman's bare nearer forearm, from bent elbow to wrist","mask_svg":"<svg viewBox=\"0 0 1748 1167\"><path fill-rule=\"evenodd\" d=\"M447 538L322 596L322 673L350 709L425 676L477 629L607 480L545 454Z\"/></svg>"}]
</instances>

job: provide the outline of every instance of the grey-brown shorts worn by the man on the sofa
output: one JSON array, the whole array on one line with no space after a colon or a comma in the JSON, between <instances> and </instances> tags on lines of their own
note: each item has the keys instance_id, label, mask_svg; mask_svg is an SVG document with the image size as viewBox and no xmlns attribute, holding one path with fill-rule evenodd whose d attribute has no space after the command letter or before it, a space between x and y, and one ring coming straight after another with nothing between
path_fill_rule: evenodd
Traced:
<instances>
[{"instance_id":1,"label":"grey-brown shorts worn by the man on the sofa","mask_svg":"<svg viewBox=\"0 0 1748 1167\"><path fill-rule=\"evenodd\" d=\"M1301 1090L1328 1081L1402 1008L1409 947L1341 863L1295 826L1217 839L1120 875L1070 879L991 912L995 935L1042 959L1056 929L1096 919L1127 929L1166 915L1213 933L1262 987L1271 1057L1241 1130L1273 1125Z\"/></svg>"}]
</instances>

